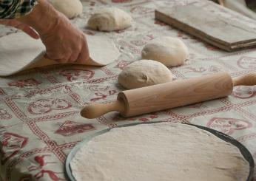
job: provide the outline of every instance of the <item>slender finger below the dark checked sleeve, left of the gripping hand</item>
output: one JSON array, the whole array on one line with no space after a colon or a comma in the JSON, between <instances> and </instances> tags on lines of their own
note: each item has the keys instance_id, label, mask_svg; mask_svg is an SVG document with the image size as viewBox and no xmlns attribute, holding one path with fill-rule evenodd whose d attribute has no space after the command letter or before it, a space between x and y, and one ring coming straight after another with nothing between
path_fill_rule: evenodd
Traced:
<instances>
[{"instance_id":1,"label":"slender finger below the dark checked sleeve, left of the gripping hand","mask_svg":"<svg viewBox=\"0 0 256 181\"><path fill-rule=\"evenodd\" d=\"M32 27L28 26L27 24L21 23L16 19L0 19L0 24L4 24L10 27L16 27L17 29L24 31L24 33L27 33L27 35L30 35L32 38L40 38L38 33L36 33L36 31L33 30Z\"/></svg>"}]
</instances>

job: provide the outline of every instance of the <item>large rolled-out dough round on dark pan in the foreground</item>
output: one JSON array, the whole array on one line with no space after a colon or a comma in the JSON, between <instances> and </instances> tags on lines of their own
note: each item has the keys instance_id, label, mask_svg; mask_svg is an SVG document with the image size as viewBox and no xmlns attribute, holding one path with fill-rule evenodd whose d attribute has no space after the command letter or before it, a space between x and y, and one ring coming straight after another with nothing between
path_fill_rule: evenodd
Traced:
<instances>
[{"instance_id":1,"label":"large rolled-out dough round on dark pan in the foreground","mask_svg":"<svg viewBox=\"0 0 256 181\"><path fill-rule=\"evenodd\" d=\"M70 166L77 181L234 181L249 175L237 147L181 123L111 129L85 143Z\"/></svg>"}]
</instances>

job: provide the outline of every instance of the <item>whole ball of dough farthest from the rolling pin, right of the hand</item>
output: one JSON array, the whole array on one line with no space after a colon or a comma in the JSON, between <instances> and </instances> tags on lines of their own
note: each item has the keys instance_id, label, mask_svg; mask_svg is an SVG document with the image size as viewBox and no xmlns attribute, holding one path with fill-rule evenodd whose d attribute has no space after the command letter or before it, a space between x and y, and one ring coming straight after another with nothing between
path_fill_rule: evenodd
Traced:
<instances>
[{"instance_id":1,"label":"whole ball of dough farthest from the rolling pin, right of the hand","mask_svg":"<svg viewBox=\"0 0 256 181\"><path fill-rule=\"evenodd\" d=\"M92 14L87 26L99 31L123 30L132 26L132 17L116 7L103 7Z\"/></svg>"}]
</instances>

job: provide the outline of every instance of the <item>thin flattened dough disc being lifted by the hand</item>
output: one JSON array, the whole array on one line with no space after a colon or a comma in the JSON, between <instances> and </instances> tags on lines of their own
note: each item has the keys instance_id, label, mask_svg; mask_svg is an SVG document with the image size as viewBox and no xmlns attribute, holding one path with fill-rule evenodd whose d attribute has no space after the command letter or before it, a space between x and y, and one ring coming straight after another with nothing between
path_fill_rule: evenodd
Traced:
<instances>
[{"instance_id":1,"label":"thin flattened dough disc being lifted by the hand","mask_svg":"<svg viewBox=\"0 0 256 181\"><path fill-rule=\"evenodd\" d=\"M115 61L120 52L106 37L87 35L90 60L84 65L104 66ZM58 64L44 58L45 47L41 40L25 33L15 33L0 38L0 76L13 75L24 69Z\"/></svg>"}]
</instances>

